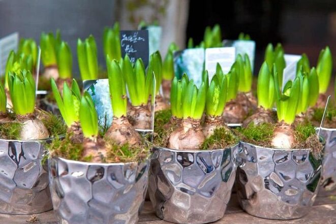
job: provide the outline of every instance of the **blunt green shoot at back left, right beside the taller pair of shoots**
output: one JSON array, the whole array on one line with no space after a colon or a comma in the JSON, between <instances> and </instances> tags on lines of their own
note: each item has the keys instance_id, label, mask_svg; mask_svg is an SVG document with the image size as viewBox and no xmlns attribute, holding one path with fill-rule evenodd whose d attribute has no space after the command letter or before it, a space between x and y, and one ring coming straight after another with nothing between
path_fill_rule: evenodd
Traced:
<instances>
[{"instance_id":1,"label":"blunt green shoot at back left, right beside the taller pair of shoots","mask_svg":"<svg viewBox=\"0 0 336 224\"><path fill-rule=\"evenodd\" d=\"M68 43L62 41L57 51L57 65L59 78L70 79L72 77L72 55Z\"/></svg>"}]
</instances>

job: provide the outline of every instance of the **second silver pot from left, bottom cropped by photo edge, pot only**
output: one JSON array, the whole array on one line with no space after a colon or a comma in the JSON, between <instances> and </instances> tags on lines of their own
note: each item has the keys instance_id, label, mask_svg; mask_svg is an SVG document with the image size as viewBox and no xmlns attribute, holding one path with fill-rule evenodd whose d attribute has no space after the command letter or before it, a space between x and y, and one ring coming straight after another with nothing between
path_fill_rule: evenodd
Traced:
<instances>
[{"instance_id":1,"label":"second silver pot from left, bottom cropped by photo edge, pot only","mask_svg":"<svg viewBox=\"0 0 336 224\"><path fill-rule=\"evenodd\" d=\"M147 189L148 168L148 160L98 164L50 158L50 191L59 223L136 223Z\"/></svg>"}]
</instances>

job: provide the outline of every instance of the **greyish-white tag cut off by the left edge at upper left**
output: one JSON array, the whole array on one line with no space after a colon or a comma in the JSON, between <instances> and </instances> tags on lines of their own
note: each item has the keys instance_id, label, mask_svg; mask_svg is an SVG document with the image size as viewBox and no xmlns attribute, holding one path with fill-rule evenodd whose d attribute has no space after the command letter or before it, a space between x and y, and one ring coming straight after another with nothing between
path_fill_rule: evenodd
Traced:
<instances>
[{"instance_id":1,"label":"greyish-white tag cut off by the left edge at upper left","mask_svg":"<svg viewBox=\"0 0 336 224\"><path fill-rule=\"evenodd\" d=\"M0 75L4 75L7 58L11 50L17 50L19 44L19 33L15 32L0 39Z\"/></svg>"}]
</instances>

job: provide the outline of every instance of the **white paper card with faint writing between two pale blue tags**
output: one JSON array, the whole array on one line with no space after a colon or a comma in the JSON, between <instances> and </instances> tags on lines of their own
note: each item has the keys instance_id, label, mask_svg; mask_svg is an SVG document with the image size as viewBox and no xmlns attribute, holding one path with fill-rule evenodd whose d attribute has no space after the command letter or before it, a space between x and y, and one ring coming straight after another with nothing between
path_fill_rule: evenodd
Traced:
<instances>
[{"instance_id":1,"label":"white paper card with faint writing between two pale blue tags","mask_svg":"<svg viewBox=\"0 0 336 224\"><path fill-rule=\"evenodd\" d=\"M236 50L234 47L216 47L205 49L205 70L208 71L209 80L216 73L216 66L219 63L223 73L230 71L236 59Z\"/></svg>"}]
</instances>

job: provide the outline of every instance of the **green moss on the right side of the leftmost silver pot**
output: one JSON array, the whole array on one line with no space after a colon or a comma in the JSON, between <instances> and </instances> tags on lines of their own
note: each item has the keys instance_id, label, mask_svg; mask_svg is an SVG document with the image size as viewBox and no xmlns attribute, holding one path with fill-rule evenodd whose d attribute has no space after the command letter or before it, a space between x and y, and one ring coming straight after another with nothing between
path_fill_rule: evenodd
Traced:
<instances>
[{"instance_id":1,"label":"green moss on the right side of the leftmost silver pot","mask_svg":"<svg viewBox=\"0 0 336 224\"><path fill-rule=\"evenodd\" d=\"M46 111L42 111L41 113L43 113L41 120L48 129L49 137L58 137L66 134L67 126L60 116Z\"/></svg>"}]
</instances>

